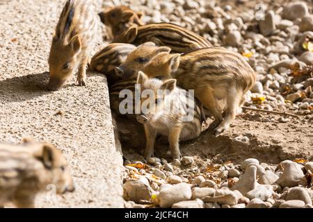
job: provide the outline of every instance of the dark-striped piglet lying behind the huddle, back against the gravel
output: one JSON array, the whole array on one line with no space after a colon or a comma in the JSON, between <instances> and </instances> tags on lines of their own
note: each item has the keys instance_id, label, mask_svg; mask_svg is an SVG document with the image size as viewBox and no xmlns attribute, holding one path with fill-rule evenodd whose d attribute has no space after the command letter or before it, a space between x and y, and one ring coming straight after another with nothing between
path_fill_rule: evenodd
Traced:
<instances>
[{"instance_id":1,"label":"dark-striped piglet lying behind the huddle, back against the gravel","mask_svg":"<svg viewBox=\"0 0 313 222\"><path fill-rule=\"evenodd\" d=\"M212 44L198 34L186 28L170 23L147 24L131 27L115 37L113 42L125 42L135 45L154 42L158 46L168 46L175 53L184 53L194 49L210 47Z\"/></svg>"}]
</instances>

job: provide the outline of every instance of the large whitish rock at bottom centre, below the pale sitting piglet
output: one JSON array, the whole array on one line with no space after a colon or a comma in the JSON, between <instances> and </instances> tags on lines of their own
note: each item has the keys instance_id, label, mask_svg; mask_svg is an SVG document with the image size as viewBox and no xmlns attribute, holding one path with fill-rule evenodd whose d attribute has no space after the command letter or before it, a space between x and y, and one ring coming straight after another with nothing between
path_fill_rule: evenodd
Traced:
<instances>
[{"instance_id":1,"label":"large whitish rock at bottom centre, below the pale sitting piglet","mask_svg":"<svg viewBox=\"0 0 313 222\"><path fill-rule=\"evenodd\" d=\"M190 200L192 196L190 185L184 182L177 185L162 185L159 191L160 207L171 207L174 203Z\"/></svg>"}]
</instances>

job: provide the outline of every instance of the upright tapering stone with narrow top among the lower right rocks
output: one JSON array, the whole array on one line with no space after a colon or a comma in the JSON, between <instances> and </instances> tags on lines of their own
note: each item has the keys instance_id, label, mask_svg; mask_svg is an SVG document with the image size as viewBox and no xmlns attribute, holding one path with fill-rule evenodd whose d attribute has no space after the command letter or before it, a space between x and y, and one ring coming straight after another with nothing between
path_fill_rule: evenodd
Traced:
<instances>
[{"instance_id":1,"label":"upright tapering stone with narrow top among the lower right rocks","mask_svg":"<svg viewBox=\"0 0 313 222\"><path fill-rule=\"evenodd\" d=\"M250 165L239 181L232 186L232 190L238 190L245 195L248 191L257 188L257 185L257 167Z\"/></svg>"}]
</instances>

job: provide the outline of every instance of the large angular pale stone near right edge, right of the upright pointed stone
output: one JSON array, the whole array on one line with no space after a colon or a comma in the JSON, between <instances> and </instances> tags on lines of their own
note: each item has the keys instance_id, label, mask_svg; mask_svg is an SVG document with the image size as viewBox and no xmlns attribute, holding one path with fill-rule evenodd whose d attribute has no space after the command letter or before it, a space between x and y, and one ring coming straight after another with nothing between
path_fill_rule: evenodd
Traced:
<instances>
[{"instance_id":1,"label":"large angular pale stone near right edge, right of the upright pointed stone","mask_svg":"<svg viewBox=\"0 0 313 222\"><path fill-rule=\"evenodd\" d=\"M281 187L296 187L301 178L304 177L302 169L296 162L284 160L280 162L280 166L284 169L282 176L276 181Z\"/></svg>"}]
</instances>

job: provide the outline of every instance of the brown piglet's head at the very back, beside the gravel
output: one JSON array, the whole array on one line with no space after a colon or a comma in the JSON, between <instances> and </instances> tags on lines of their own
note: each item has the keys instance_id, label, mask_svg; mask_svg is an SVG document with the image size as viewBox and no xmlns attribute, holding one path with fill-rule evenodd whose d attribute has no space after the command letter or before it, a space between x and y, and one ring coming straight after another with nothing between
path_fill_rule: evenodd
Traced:
<instances>
[{"instance_id":1,"label":"brown piglet's head at the very back, beside the gravel","mask_svg":"<svg viewBox=\"0 0 313 222\"><path fill-rule=\"evenodd\" d=\"M99 13L101 22L106 25L109 37L113 39L131 26L143 26L143 12L135 12L127 6L115 6Z\"/></svg>"}]
</instances>

